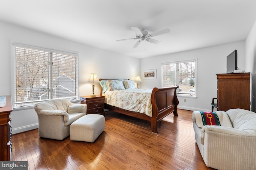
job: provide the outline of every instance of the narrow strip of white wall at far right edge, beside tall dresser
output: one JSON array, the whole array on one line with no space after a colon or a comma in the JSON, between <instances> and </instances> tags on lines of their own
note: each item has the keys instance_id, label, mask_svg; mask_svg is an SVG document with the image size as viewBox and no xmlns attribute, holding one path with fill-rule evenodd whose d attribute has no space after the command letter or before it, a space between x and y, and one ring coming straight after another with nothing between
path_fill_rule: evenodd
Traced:
<instances>
[{"instance_id":1,"label":"narrow strip of white wall at far right edge, beside tall dresser","mask_svg":"<svg viewBox=\"0 0 256 170\"><path fill-rule=\"evenodd\" d=\"M252 102L251 108L252 111L256 112L256 22L252 27L246 41L245 41L245 49L246 49L246 58L245 58L245 66L248 72L252 73Z\"/></svg>"}]
</instances>

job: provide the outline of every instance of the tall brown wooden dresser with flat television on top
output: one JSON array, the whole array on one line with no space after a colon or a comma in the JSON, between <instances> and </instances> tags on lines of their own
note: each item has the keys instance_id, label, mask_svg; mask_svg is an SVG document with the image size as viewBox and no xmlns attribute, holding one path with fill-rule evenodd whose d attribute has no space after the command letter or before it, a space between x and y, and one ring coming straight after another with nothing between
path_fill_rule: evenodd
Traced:
<instances>
[{"instance_id":1,"label":"tall brown wooden dresser with flat television on top","mask_svg":"<svg viewBox=\"0 0 256 170\"><path fill-rule=\"evenodd\" d=\"M250 110L250 73L216 74L218 110Z\"/></svg>"}]
</instances>

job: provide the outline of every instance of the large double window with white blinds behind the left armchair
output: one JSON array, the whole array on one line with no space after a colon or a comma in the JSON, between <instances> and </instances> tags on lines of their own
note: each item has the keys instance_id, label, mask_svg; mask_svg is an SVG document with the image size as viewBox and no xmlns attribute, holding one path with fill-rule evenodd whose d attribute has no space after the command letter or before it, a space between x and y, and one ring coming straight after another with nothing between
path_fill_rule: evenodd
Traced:
<instances>
[{"instance_id":1,"label":"large double window with white blinds behind the left armchair","mask_svg":"<svg viewBox=\"0 0 256 170\"><path fill-rule=\"evenodd\" d=\"M15 104L78 98L78 55L15 46Z\"/></svg>"}]
</instances>

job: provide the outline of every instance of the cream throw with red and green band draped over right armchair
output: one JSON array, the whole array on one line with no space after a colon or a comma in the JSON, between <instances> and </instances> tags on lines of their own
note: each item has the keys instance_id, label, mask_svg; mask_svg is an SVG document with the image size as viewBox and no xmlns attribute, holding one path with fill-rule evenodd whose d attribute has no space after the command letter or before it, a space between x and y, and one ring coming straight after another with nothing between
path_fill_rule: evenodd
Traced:
<instances>
[{"instance_id":1,"label":"cream throw with red and green band draped over right armchair","mask_svg":"<svg viewBox=\"0 0 256 170\"><path fill-rule=\"evenodd\" d=\"M196 119L196 125L203 127L204 125L219 125L225 127L232 127L232 123L225 111L193 111L193 116Z\"/></svg>"}]
</instances>

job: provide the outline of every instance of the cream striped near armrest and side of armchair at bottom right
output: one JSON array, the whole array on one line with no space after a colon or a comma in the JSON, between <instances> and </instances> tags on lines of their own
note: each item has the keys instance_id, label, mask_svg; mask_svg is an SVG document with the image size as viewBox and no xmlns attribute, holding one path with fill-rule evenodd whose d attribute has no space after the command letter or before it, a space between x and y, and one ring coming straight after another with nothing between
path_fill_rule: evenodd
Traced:
<instances>
[{"instance_id":1,"label":"cream striped near armrest and side of armchair at bottom right","mask_svg":"<svg viewBox=\"0 0 256 170\"><path fill-rule=\"evenodd\" d=\"M204 126L201 132L206 166L230 170L256 168L256 134L222 126Z\"/></svg>"}]
</instances>

